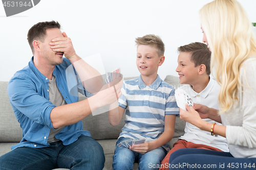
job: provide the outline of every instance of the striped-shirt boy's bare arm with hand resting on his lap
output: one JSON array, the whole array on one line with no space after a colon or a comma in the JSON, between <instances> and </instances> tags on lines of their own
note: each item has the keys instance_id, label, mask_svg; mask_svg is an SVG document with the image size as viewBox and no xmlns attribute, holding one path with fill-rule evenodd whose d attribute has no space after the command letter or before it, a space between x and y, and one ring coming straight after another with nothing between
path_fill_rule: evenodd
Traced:
<instances>
[{"instance_id":1,"label":"striped-shirt boy's bare arm with hand resting on his lap","mask_svg":"<svg viewBox=\"0 0 256 170\"><path fill-rule=\"evenodd\" d=\"M175 119L176 115L165 115L164 132L159 136L158 139L151 142L145 141L145 143L134 144L130 147L130 149L132 151L144 154L166 144L174 136Z\"/></svg>"}]
</instances>

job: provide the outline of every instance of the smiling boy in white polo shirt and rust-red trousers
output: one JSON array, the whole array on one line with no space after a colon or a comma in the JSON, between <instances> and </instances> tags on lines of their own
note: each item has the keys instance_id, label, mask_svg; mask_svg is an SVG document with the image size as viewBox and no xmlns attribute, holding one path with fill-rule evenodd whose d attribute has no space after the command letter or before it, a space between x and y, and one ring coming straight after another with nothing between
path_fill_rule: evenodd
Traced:
<instances>
[{"instance_id":1,"label":"smiling boy in white polo shirt and rust-red trousers","mask_svg":"<svg viewBox=\"0 0 256 170\"><path fill-rule=\"evenodd\" d=\"M179 74L180 83L186 84L180 88L191 96L194 103L219 110L218 94L220 86L209 76L211 52L207 45L201 42L190 43L180 46L178 51L180 54L176 71ZM210 124L214 123L214 120L208 118L204 120ZM216 124L221 125L217 122ZM210 132L200 130L189 123L186 123L185 134L179 139L161 162L161 170L169 169L170 154L178 149L200 148L228 152L226 138L212 136Z\"/></svg>"}]
</instances>

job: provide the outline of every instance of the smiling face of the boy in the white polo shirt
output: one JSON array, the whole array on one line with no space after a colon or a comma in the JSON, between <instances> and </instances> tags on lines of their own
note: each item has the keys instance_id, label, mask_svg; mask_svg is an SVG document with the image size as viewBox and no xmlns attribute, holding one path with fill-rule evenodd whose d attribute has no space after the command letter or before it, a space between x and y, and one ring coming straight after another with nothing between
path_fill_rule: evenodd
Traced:
<instances>
[{"instance_id":1,"label":"smiling face of the boy in the white polo shirt","mask_svg":"<svg viewBox=\"0 0 256 170\"><path fill-rule=\"evenodd\" d=\"M198 71L200 65L195 67L195 63L190 61L191 54L189 52L180 52L178 56L178 66L176 72L179 74L180 84L194 85L198 79Z\"/></svg>"}]
</instances>

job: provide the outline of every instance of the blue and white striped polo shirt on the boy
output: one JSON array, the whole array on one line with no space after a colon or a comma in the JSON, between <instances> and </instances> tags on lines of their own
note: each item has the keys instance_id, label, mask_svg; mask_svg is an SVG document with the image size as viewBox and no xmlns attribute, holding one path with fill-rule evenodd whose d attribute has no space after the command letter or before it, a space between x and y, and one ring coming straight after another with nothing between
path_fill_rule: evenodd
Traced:
<instances>
[{"instance_id":1,"label":"blue and white striped polo shirt on the boy","mask_svg":"<svg viewBox=\"0 0 256 170\"><path fill-rule=\"evenodd\" d=\"M159 76L150 86L145 85L141 76L124 81L118 104L126 109L126 115L119 137L157 139L164 131L165 114L179 114L174 94L175 88ZM164 145L167 147L168 143Z\"/></svg>"}]
</instances>

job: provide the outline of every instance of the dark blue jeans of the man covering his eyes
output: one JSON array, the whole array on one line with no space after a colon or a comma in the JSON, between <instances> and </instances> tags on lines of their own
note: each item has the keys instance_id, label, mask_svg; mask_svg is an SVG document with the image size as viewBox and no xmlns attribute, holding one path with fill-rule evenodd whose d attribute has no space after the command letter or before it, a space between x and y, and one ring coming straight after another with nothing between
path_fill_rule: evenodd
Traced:
<instances>
[{"instance_id":1,"label":"dark blue jeans of the man covering his eyes","mask_svg":"<svg viewBox=\"0 0 256 170\"><path fill-rule=\"evenodd\" d=\"M101 145L90 136L80 136L66 146L57 141L46 148L17 148L0 157L0 169L103 169L104 162Z\"/></svg>"}]
</instances>

